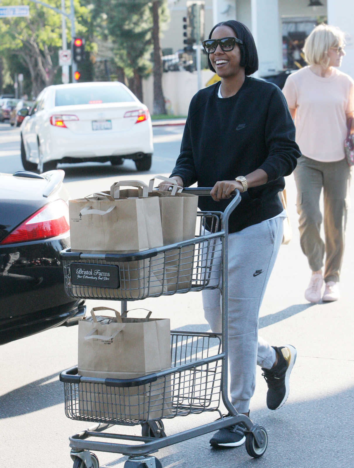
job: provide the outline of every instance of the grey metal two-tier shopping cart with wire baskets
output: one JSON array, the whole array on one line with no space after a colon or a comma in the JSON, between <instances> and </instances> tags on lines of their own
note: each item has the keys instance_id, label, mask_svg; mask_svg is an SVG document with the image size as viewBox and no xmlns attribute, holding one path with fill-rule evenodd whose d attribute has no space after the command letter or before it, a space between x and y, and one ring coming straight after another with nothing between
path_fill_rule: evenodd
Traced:
<instances>
[{"instance_id":1,"label":"grey metal two-tier shopping cart with wire baskets","mask_svg":"<svg viewBox=\"0 0 354 468\"><path fill-rule=\"evenodd\" d=\"M210 190L184 189L198 196L210 196ZM241 422L246 427L247 453L254 458L265 453L265 429L237 413L228 398L228 220L240 200L235 190L224 212L198 212L199 233L188 241L128 255L82 254L70 249L60 253L69 296L120 300L122 312L128 301L146 297L204 288L220 288L222 296L221 333L171 331L171 369L126 380L83 377L77 366L60 374L66 416L96 423L69 437L74 468L99 468L90 450L127 455L125 468L162 468L151 453ZM78 269L98 266L111 273L114 284L98 287L75 276ZM219 409L221 400L229 411L227 416ZM166 435L163 419L204 411L218 411L220 418ZM113 425L137 424L141 424L141 436L103 432ZM125 440L133 444L123 443Z\"/></svg>"}]
</instances>

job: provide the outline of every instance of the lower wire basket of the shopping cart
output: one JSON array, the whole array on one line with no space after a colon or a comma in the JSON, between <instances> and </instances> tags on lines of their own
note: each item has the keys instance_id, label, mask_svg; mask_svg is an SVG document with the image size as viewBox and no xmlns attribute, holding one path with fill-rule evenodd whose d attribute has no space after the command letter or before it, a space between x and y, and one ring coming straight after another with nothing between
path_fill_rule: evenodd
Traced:
<instances>
[{"instance_id":1,"label":"lower wire basket of the shopping cart","mask_svg":"<svg viewBox=\"0 0 354 468\"><path fill-rule=\"evenodd\" d=\"M138 379L82 377L73 367L60 374L66 416L121 425L218 409L221 395L220 335L171 332L172 368Z\"/></svg>"}]
</instances>

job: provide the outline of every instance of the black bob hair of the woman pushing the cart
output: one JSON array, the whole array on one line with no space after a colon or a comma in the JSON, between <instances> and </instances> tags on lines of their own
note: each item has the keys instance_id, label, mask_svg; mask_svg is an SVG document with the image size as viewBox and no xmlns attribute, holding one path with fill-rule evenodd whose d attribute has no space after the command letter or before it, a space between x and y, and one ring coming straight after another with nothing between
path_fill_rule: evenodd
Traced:
<instances>
[{"instance_id":1,"label":"black bob hair of the woman pushing the cart","mask_svg":"<svg viewBox=\"0 0 354 468\"><path fill-rule=\"evenodd\" d=\"M237 44L241 51L240 66L244 67L244 73L249 76L258 70L258 53L256 44L254 42L250 29L247 28L243 23L235 20L222 21L221 23L215 24L214 28L210 31L208 39L211 39L213 31L218 26L229 26L229 28L235 31L237 39L241 39L243 44ZM235 44L236 45L236 44ZM216 73L214 67L211 64L208 55L208 64L212 72Z\"/></svg>"}]
</instances>

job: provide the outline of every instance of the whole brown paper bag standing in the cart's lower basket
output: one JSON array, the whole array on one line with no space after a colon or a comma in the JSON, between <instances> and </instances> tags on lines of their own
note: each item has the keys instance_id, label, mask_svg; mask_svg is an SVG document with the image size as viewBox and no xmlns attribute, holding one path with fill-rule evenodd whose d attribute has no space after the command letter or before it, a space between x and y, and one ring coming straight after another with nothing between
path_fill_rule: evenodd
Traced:
<instances>
[{"instance_id":1,"label":"whole brown paper bag standing in the cart's lower basket","mask_svg":"<svg viewBox=\"0 0 354 468\"><path fill-rule=\"evenodd\" d=\"M113 310L115 318L96 316ZM91 317L79 321L78 372L95 378L136 379L169 369L170 320L130 318L109 307L95 307ZM131 388L79 384L82 415L114 419L152 419L171 414L170 384L162 378ZM166 388L167 386L167 388ZM112 418L112 417L111 417Z\"/></svg>"}]
</instances>

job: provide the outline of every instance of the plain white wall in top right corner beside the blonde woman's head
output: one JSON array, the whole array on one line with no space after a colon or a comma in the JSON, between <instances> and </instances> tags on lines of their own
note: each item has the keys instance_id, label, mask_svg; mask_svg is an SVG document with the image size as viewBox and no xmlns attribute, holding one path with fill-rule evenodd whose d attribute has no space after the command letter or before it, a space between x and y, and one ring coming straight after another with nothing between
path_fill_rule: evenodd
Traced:
<instances>
[{"instance_id":1,"label":"plain white wall in top right corner beside the blonde woman's head","mask_svg":"<svg viewBox=\"0 0 354 468\"><path fill-rule=\"evenodd\" d=\"M354 78L354 1L327 0L328 24L346 33L346 56L340 70Z\"/></svg>"}]
</instances>

